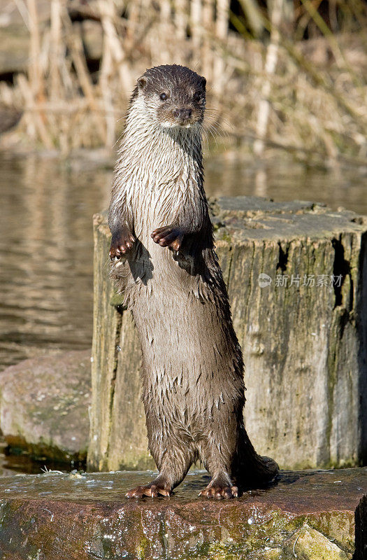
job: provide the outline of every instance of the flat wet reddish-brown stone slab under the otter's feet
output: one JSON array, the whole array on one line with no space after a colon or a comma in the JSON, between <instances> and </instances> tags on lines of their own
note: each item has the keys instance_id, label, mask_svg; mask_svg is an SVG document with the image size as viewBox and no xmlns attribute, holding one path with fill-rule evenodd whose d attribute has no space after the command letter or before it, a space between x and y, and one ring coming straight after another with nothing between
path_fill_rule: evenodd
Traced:
<instances>
[{"instance_id":1,"label":"flat wet reddish-brown stone slab under the otter's feet","mask_svg":"<svg viewBox=\"0 0 367 560\"><path fill-rule=\"evenodd\" d=\"M367 469L281 472L237 500L198 498L187 475L171 498L124 498L152 472L0 479L2 560L366 559ZM354 513L357 510L357 526Z\"/></svg>"}]
</instances>

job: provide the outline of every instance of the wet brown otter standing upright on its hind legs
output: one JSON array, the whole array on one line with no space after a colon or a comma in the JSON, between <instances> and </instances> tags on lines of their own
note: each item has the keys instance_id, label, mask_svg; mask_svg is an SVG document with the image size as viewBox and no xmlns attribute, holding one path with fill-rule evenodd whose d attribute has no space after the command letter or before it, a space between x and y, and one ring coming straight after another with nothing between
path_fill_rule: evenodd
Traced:
<instances>
[{"instance_id":1,"label":"wet brown otter standing upright on its hind legs","mask_svg":"<svg viewBox=\"0 0 367 560\"><path fill-rule=\"evenodd\" d=\"M159 468L127 497L169 496L201 458L208 498L272 479L243 424L243 357L203 190L206 79L173 64L147 70L131 97L108 223L117 289L143 350L149 449Z\"/></svg>"}]
</instances>

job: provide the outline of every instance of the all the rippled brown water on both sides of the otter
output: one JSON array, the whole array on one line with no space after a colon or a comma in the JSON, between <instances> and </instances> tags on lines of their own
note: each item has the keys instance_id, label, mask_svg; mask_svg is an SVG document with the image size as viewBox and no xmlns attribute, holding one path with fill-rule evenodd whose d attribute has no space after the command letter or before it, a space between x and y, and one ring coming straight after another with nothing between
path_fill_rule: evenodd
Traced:
<instances>
[{"instance_id":1,"label":"all the rippled brown water on both sides of the otter","mask_svg":"<svg viewBox=\"0 0 367 560\"><path fill-rule=\"evenodd\" d=\"M208 195L315 200L367 214L366 175L358 170L326 173L230 156L207 162ZM0 170L0 367L40 351L87 348L92 214L108 206L112 171L4 155Z\"/></svg>"}]
</instances>

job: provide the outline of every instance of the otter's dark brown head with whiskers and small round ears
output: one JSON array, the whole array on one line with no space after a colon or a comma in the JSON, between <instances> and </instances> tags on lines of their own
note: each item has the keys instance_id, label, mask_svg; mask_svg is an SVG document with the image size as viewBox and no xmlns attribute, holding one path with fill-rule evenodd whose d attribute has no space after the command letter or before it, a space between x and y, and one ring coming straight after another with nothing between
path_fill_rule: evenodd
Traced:
<instances>
[{"instance_id":1,"label":"otter's dark brown head with whiskers and small round ears","mask_svg":"<svg viewBox=\"0 0 367 560\"><path fill-rule=\"evenodd\" d=\"M140 99L146 116L162 128L203 122L206 78L178 64L154 66L138 79L131 102Z\"/></svg>"}]
</instances>

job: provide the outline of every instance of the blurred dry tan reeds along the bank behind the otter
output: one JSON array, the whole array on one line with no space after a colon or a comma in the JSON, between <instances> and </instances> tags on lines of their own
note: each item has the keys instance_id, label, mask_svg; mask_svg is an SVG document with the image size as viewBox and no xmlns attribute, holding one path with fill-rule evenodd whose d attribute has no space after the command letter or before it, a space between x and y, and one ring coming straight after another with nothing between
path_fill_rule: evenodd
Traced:
<instances>
[{"instance_id":1,"label":"blurred dry tan reeds along the bank behind the otter","mask_svg":"<svg viewBox=\"0 0 367 560\"><path fill-rule=\"evenodd\" d=\"M136 78L208 80L207 139L366 158L364 0L0 0L2 146L110 149Z\"/></svg>"}]
</instances>

